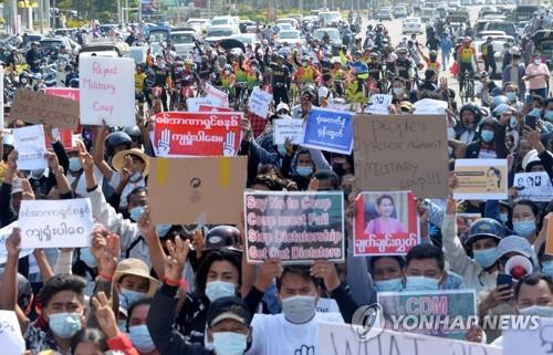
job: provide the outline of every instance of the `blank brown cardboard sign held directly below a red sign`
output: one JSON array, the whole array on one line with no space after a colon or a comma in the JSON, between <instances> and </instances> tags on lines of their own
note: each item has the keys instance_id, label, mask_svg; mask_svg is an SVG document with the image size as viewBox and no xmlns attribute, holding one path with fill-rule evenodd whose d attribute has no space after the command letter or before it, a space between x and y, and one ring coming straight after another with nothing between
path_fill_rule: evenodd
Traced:
<instances>
[{"instance_id":1,"label":"blank brown cardboard sign held directly below a red sign","mask_svg":"<svg viewBox=\"0 0 553 355\"><path fill-rule=\"evenodd\" d=\"M154 223L237 225L243 211L248 157L150 159Z\"/></svg>"}]
</instances>

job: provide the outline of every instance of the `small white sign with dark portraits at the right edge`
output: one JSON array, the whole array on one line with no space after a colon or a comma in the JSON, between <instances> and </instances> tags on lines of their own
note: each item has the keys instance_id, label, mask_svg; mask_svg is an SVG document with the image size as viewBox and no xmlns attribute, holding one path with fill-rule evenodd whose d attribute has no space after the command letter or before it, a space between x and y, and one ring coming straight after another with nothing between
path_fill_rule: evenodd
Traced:
<instances>
[{"instance_id":1,"label":"small white sign with dark portraits at the right edge","mask_svg":"<svg viewBox=\"0 0 553 355\"><path fill-rule=\"evenodd\" d=\"M549 202L553 199L553 186L545 171L515 174L513 185L518 200Z\"/></svg>"}]
</instances>

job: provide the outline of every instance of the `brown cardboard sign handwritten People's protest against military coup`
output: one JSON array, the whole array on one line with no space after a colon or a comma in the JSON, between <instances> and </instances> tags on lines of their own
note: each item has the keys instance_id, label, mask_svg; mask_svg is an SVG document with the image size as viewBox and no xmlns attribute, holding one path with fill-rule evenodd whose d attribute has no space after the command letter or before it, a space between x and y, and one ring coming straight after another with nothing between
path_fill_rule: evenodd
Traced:
<instances>
[{"instance_id":1,"label":"brown cardboard sign handwritten People's protest against military coup","mask_svg":"<svg viewBox=\"0 0 553 355\"><path fill-rule=\"evenodd\" d=\"M445 116L355 115L354 126L357 188L447 198Z\"/></svg>"}]
</instances>

